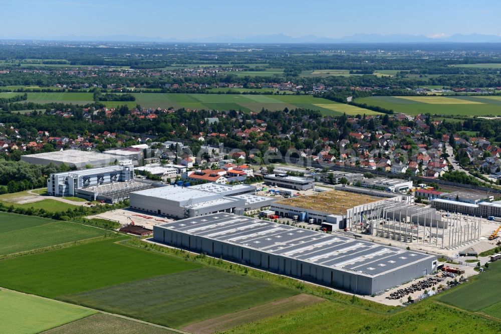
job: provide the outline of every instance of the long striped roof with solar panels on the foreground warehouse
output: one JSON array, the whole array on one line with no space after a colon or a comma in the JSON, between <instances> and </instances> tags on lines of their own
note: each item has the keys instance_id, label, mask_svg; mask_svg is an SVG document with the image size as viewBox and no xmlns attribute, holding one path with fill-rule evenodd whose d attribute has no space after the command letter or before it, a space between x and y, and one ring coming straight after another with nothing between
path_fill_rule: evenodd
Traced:
<instances>
[{"instance_id":1,"label":"long striped roof with solar panels on the foreground warehouse","mask_svg":"<svg viewBox=\"0 0 501 334\"><path fill-rule=\"evenodd\" d=\"M434 257L228 213L188 218L161 227L370 277Z\"/></svg>"}]
</instances>

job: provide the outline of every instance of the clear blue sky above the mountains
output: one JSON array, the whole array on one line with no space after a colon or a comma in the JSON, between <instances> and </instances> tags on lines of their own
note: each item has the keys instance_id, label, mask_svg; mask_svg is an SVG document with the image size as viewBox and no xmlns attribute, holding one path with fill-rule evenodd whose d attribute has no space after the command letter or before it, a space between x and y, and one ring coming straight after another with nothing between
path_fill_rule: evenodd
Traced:
<instances>
[{"instance_id":1,"label":"clear blue sky above the mountains","mask_svg":"<svg viewBox=\"0 0 501 334\"><path fill-rule=\"evenodd\" d=\"M501 35L501 1L0 0L0 38Z\"/></svg>"}]
</instances>

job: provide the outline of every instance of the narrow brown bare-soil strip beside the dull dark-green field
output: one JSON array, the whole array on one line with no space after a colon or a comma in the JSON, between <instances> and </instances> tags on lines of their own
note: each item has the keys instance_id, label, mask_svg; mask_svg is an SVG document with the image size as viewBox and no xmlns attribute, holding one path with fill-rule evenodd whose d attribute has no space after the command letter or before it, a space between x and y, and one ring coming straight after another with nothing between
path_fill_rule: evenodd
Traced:
<instances>
[{"instance_id":1,"label":"narrow brown bare-soil strip beside the dull dark-green field","mask_svg":"<svg viewBox=\"0 0 501 334\"><path fill-rule=\"evenodd\" d=\"M194 334L211 334L216 331L223 331L251 321L257 321L277 314L287 313L298 308L313 305L323 300L323 298L309 294L298 294L292 297L272 301L268 304L192 323L183 327L182 330Z\"/></svg>"}]
</instances>

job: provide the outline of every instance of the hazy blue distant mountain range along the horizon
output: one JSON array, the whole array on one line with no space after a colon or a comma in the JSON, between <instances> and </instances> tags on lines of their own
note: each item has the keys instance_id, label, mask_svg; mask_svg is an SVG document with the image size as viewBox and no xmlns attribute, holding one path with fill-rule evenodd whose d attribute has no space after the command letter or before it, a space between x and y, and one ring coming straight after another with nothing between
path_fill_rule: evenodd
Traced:
<instances>
[{"instance_id":1,"label":"hazy blue distant mountain range along the horizon","mask_svg":"<svg viewBox=\"0 0 501 334\"><path fill-rule=\"evenodd\" d=\"M482 35L482 34L455 34L445 35L436 34L438 37L427 37L424 35L378 35L378 34L355 34L341 38L319 37L316 35L305 35L300 37L291 37L283 33L261 36L230 36L219 35L196 39L176 39L161 37L144 37L131 35L110 35L110 36L55 36L53 38L37 37L18 37L22 40L53 40L53 41L94 41L94 42L173 42L173 43L501 43L501 36ZM0 36L0 39L12 39Z\"/></svg>"}]
</instances>

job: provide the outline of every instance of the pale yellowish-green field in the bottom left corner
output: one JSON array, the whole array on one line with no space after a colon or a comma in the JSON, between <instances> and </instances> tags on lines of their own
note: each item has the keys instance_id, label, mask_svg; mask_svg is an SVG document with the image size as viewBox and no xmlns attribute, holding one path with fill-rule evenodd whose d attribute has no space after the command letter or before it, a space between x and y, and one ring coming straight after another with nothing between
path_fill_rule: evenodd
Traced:
<instances>
[{"instance_id":1,"label":"pale yellowish-green field in the bottom left corner","mask_svg":"<svg viewBox=\"0 0 501 334\"><path fill-rule=\"evenodd\" d=\"M96 313L83 307L0 289L0 332L38 333Z\"/></svg>"}]
</instances>

